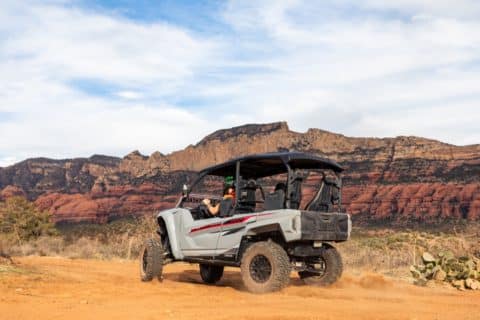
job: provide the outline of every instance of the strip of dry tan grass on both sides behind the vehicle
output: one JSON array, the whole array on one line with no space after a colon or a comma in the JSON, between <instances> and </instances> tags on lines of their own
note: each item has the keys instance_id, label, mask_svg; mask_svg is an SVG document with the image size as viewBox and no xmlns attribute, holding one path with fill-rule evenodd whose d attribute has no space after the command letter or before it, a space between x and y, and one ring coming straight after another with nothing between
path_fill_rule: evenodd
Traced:
<instances>
[{"instance_id":1,"label":"strip of dry tan grass on both sides behind the vehicle","mask_svg":"<svg viewBox=\"0 0 480 320\"><path fill-rule=\"evenodd\" d=\"M478 227L479 224L454 224L427 231L361 227L354 228L350 241L336 246L342 253L346 269L405 275L410 265L420 262L424 251L436 254L450 250L455 256L478 256ZM0 253L12 256L135 259L144 239L154 236L155 230L156 223L151 217L119 220L105 225L60 226L58 236L40 237L21 244L0 236Z\"/></svg>"}]
</instances>

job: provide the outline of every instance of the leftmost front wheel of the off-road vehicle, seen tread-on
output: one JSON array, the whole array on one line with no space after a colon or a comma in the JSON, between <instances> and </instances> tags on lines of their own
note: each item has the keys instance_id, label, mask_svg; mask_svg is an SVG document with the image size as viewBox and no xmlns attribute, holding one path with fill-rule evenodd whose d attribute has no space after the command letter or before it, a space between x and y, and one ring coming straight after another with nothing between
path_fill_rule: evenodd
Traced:
<instances>
[{"instance_id":1,"label":"leftmost front wheel of the off-road vehicle, seen tread-on","mask_svg":"<svg viewBox=\"0 0 480 320\"><path fill-rule=\"evenodd\" d=\"M140 278L142 281L152 281L162 278L163 248L160 241L148 239L140 251Z\"/></svg>"}]
</instances>

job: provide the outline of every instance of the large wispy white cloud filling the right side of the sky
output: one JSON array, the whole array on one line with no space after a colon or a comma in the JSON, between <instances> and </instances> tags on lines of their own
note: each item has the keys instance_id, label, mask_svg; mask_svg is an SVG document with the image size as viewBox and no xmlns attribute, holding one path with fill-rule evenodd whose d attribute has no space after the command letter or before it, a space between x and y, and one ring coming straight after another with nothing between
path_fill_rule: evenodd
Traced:
<instances>
[{"instance_id":1,"label":"large wispy white cloud filling the right side of the sky","mask_svg":"<svg viewBox=\"0 0 480 320\"><path fill-rule=\"evenodd\" d=\"M364 10L409 12L373 2L348 3ZM320 127L355 136L480 142L475 125L480 121L475 112L480 102L478 19L439 15L447 10L433 10L427 3L425 10L412 9L410 18L325 14L332 3L323 4L276 1L252 8L230 2L225 20L244 33L260 32L277 50L268 62L276 72L245 79L234 99L252 106L252 118L274 115L299 130ZM418 19L425 12L429 15ZM452 117L452 112L467 116Z\"/></svg>"}]
</instances>

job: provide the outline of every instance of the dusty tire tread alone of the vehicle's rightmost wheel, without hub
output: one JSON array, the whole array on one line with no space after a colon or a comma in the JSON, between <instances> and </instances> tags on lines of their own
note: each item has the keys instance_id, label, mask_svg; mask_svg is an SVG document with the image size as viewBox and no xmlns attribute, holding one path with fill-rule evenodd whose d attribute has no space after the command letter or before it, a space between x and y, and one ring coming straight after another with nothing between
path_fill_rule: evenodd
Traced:
<instances>
[{"instance_id":1,"label":"dusty tire tread alone of the vehicle's rightmost wheel, without hub","mask_svg":"<svg viewBox=\"0 0 480 320\"><path fill-rule=\"evenodd\" d=\"M322 253L319 257L319 262L323 262L325 269L323 273L318 275L315 272L300 271L298 275L308 285L313 286L329 286L338 279L343 272L343 263L340 253L330 245L323 245Z\"/></svg>"}]
</instances>

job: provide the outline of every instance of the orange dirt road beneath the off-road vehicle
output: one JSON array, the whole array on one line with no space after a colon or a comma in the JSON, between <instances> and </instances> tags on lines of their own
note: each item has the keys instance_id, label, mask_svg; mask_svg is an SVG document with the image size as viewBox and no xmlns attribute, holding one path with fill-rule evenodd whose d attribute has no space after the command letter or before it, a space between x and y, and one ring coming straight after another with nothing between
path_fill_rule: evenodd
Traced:
<instances>
[{"instance_id":1,"label":"orange dirt road beneath the off-road vehicle","mask_svg":"<svg viewBox=\"0 0 480 320\"><path fill-rule=\"evenodd\" d=\"M292 273L284 291L253 295L237 269L208 286L187 264L167 266L162 283L142 283L131 261L17 261L20 271L0 272L1 320L480 319L479 292L419 288L376 274L347 273L332 288L315 288Z\"/></svg>"}]
</instances>

